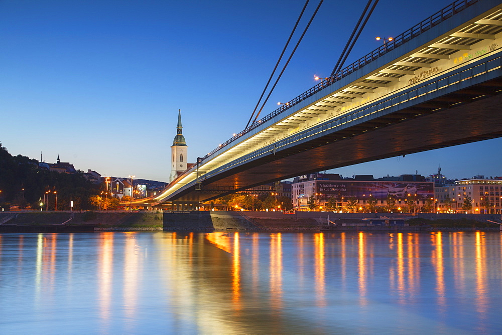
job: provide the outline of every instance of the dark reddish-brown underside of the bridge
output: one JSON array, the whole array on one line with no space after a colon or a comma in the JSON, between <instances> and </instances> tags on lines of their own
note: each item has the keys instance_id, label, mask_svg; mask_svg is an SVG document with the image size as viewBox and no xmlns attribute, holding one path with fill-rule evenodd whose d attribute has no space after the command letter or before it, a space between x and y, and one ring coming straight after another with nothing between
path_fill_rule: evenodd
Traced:
<instances>
[{"instance_id":1,"label":"dark reddish-brown underside of the bridge","mask_svg":"<svg viewBox=\"0 0 502 335\"><path fill-rule=\"evenodd\" d=\"M502 136L502 79L404 108L240 164L170 200L206 201L265 183Z\"/></svg>"}]
</instances>

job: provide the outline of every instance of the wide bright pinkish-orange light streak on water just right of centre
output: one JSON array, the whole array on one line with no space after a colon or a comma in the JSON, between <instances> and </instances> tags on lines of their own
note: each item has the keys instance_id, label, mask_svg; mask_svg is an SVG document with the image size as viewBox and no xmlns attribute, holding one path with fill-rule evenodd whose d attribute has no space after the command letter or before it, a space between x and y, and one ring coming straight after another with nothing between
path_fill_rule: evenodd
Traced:
<instances>
[{"instance_id":1,"label":"wide bright pinkish-orange light streak on water just right of centre","mask_svg":"<svg viewBox=\"0 0 502 335\"><path fill-rule=\"evenodd\" d=\"M273 308L282 307L282 235L270 235L270 293Z\"/></svg>"}]
</instances>

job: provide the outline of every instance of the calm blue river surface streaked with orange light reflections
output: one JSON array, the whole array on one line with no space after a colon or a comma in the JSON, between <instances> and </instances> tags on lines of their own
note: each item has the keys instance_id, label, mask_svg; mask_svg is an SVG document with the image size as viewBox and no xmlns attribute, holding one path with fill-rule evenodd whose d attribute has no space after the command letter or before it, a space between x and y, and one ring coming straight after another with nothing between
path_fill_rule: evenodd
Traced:
<instances>
[{"instance_id":1,"label":"calm blue river surface streaked with orange light reflections","mask_svg":"<svg viewBox=\"0 0 502 335\"><path fill-rule=\"evenodd\" d=\"M502 234L0 234L0 333L498 332Z\"/></svg>"}]
</instances>

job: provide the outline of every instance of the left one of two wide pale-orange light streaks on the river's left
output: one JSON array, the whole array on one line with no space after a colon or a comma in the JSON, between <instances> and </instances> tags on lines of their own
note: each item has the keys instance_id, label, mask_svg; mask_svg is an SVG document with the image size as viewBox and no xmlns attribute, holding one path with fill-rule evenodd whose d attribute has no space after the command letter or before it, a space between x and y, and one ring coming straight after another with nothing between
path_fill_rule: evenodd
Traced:
<instances>
[{"instance_id":1,"label":"left one of two wide pale-orange light streaks on the river's left","mask_svg":"<svg viewBox=\"0 0 502 335\"><path fill-rule=\"evenodd\" d=\"M113 234L99 234L99 311L100 317L109 320L113 280Z\"/></svg>"}]
</instances>

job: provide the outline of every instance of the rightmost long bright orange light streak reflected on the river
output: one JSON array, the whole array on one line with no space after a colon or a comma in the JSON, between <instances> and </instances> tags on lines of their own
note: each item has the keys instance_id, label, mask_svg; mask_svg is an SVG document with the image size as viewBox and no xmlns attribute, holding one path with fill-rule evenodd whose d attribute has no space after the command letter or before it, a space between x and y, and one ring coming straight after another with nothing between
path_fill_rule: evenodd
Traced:
<instances>
[{"instance_id":1,"label":"rightmost long bright orange light streak reflected on the river","mask_svg":"<svg viewBox=\"0 0 502 335\"><path fill-rule=\"evenodd\" d=\"M488 298L486 296L486 245L484 234L476 232L476 312L481 320L486 318Z\"/></svg>"}]
</instances>

